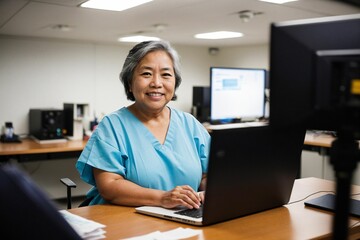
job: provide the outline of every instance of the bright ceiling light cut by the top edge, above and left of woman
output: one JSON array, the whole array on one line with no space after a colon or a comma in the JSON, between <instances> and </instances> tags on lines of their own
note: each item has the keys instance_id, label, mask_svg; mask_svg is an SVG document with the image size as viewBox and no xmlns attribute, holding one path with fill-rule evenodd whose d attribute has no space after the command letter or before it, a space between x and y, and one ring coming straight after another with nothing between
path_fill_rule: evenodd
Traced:
<instances>
[{"instance_id":1,"label":"bright ceiling light cut by the top edge, above and left of woman","mask_svg":"<svg viewBox=\"0 0 360 240\"><path fill-rule=\"evenodd\" d=\"M89 0L82 3L80 7L123 11L151 1L152 0Z\"/></svg>"}]
</instances>

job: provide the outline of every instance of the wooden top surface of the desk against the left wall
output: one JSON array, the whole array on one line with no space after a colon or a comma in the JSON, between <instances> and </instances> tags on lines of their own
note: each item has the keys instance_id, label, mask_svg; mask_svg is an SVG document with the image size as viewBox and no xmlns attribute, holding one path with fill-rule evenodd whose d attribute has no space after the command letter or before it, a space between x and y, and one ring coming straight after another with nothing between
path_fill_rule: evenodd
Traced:
<instances>
[{"instance_id":1,"label":"wooden top surface of the desk against the left wall","mask_svg":"<svg viewBox=\"0 0 360 240\"><path fill-rule=\"evenodd\" d=\"M0 156L35 153L55 153L82 151L86 140L73 140L64 143L37 143L32 139L22 139L21 143L0 143Z\"/></svg>"}]
</instances>

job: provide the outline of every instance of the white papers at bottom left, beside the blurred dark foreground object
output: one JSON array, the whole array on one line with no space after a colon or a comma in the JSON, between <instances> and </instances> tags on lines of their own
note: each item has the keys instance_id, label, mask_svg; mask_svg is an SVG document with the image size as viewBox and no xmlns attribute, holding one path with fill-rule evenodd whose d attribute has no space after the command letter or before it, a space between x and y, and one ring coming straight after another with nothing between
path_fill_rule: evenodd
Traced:
<instances>
[{"instance_id":1,"label":"white papers at bottom left, beside the blurred dark foreground object","mask_svg":"<svg viewBox=\"0 0 360 240\"><path fill-rule=\"evenodd\" d=\"M105 238L105 225L72 214L66 210L60 210L59 212L83 239L96 240Z\"/></svg>"}]
</instances>

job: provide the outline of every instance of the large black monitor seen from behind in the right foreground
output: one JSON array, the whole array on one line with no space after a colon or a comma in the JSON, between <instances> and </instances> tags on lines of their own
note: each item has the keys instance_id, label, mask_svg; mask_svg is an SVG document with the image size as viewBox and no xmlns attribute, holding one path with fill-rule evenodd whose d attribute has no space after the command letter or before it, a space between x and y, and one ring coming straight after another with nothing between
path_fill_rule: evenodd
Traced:
<instances>
[{"instance_id":1,"label":"large black monitor seen from behind in the right foreground","mask_svg":"<svg viewBox=\"0 0 360 240\"><path fill-rule=\"evenodd\" d=\"M360 14L272 24L269 76L270 125L359 125Z\"/></svg>"}]
</instances>

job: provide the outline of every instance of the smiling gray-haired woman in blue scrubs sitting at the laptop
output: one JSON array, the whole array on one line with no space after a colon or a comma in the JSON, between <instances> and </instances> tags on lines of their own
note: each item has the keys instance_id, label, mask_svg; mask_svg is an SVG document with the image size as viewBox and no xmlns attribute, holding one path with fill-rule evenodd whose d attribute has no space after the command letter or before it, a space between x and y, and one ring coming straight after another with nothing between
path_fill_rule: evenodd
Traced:
<instances>
[{"instance_id":1,"label":"smiling gray-haired woman in blue scrubs sitting at the laptop","mask_svg":"<svg viewBox=\"0 0 360 240\"><path fill-rule=\"evenodd\" d=\"M139 43L120 80L134 103L103 118L76 164L93 185L90 204L199 208L210 135L192 115L167 106L181 83L177 52L164 41Z\"/></svg>"}]
</instances>

